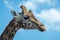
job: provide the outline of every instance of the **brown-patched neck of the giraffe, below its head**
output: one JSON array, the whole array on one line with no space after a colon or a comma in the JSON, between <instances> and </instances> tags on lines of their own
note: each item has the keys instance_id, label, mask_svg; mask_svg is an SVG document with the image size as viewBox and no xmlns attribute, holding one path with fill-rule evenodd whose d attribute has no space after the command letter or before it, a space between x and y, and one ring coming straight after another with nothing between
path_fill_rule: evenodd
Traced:
<instances>
[{"instance_id":1,"label":"brown-patched neck of the giraffe, below its head","mask_svg":"<svg viewBox=\"0 0 60 40\"><path fill-rule=\"evenodd\" d=\"M14 35L16 34L17 30L20 28L19 24L16 24L14 19L9 23L6 27L4 32L1 35L1 40L13 40Z\"/></svg>"}]
</instances>

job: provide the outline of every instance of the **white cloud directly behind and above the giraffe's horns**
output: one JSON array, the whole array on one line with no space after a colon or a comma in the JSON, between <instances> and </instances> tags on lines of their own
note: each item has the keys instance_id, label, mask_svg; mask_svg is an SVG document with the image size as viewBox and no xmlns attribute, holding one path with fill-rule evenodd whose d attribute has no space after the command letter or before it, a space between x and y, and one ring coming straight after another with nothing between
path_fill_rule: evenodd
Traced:
<instances>
[{"instance_id":1,"label":"white cloud directly behind and above the giraffe's horns","mask_svg":"<svg viewBox=\"0 0 60 40\"><path fill-rule=\"evenodd\" d=\"M26 1L26 2L22 2L22 3L19 3L19 7L21 6L21 5L24 5L24 6L26 6L26 8L28 9L28 10L36 10L36 8L37 8L37 6L36 6L36 3L34 3L33 1Z\"/></svg>"}]
</instances>

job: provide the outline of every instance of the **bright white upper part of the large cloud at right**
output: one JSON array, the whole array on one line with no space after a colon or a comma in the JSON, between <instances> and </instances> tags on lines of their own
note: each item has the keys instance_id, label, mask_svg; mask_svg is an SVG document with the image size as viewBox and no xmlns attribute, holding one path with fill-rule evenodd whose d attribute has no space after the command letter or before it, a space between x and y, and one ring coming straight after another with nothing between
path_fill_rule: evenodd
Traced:
<instances>
[{"instance_id":1,"label":"bright white upper part of the large cloud at right","mask_svg":"<svg viewBox=\"0 0 60 40\"><path fill-rule=\"evenodd\" d=\"M60 21L60 11L53 8L50 10L43 10L39 16L49 22Z\"/></svg>"}]
</instances>

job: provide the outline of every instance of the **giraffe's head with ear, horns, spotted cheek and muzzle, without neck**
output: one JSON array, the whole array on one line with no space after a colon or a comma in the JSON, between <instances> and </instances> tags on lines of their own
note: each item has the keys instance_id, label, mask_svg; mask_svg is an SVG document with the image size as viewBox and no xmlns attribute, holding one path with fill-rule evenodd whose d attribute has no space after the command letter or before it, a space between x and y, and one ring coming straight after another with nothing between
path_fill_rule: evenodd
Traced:
<instances>
[{"instance_id":1,"label":"giraffe's head with ear, horns, spotted cheek and muzzle, without neck","mask_svg":"<svg viewBox=\"0 0 60 40\"><path fill-rule=\"evenodd\" d=\"M21 13L16 13L11 11L16 22L22 22L22 28L24 29L39 29L40 31L45 31L44 25L42 25L33 15L32 11L27 11L25 6L20 7L22 9ZM19 24L19 23L18 23Z\"/></svg>"}]
</instances>

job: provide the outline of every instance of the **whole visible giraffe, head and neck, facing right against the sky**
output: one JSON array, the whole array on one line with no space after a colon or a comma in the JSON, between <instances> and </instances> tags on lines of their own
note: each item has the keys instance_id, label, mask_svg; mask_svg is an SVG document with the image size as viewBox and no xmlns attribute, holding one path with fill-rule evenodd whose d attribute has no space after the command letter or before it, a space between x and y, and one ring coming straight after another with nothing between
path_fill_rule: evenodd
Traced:
<instances>
[{"instance_id":1,"label":"whole visible giraffe, head and neck, facing right against the sky","mask_svg":"<svg viewBox=\"0 0 60 40\"><path fill-rule=\"evenodd\" d=\"M7 25L2 35L0 36L0 40L13 40L16 32L20 29L38 29L40 31L45 31L44 25L39 23L39 21L33 16L31 10L27 11L25 6L20 7L22 9L21 13L16 13L15 11L11 11L14 18Z\"/></svg>"}]
</instances>

